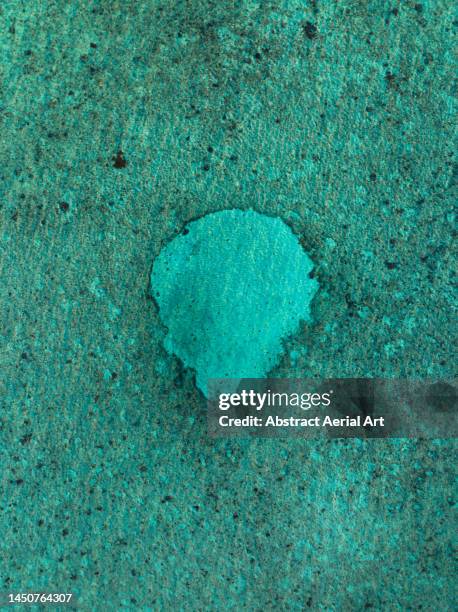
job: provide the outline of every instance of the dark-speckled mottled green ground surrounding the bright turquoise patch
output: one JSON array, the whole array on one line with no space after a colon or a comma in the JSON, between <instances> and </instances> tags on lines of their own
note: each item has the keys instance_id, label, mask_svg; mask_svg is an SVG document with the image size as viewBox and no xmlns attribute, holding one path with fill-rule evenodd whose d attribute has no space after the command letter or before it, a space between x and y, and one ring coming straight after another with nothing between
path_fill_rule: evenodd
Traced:
<instances>
[{"instance_id":1,"label":"dark-speckled mottled green ground surrounding the bright turquoise patch","mask_svg":"<svg viewBox=\"0 0 458 612\"><path fill-rule=\"evenodd\" d=\"M451 610L452 441L211 441L151 265L252 208L317 264L276 376L453 374L446 0L0 6L0 590Z\"/></svg>"}]
</instances>

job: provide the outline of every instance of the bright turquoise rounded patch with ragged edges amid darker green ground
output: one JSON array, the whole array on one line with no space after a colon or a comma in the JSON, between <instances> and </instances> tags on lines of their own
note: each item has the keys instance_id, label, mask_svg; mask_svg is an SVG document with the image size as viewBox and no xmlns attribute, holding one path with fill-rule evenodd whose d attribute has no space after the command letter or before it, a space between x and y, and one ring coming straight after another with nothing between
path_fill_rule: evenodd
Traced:
<instances>
[{"instance_id":1,"label":"bright turquoise rounded patch with ragged edges amid darker green ground","mask_svg":"<svg viewBox=\"0 0 458 612\"><path fill-rule=\"evenodd\" d=\"M281 219L225 210L190 223L151 273L165 348L195 371L204 395L210 378L267 376L310 321L312 268Z\"/></svg>"}]
</instances>

